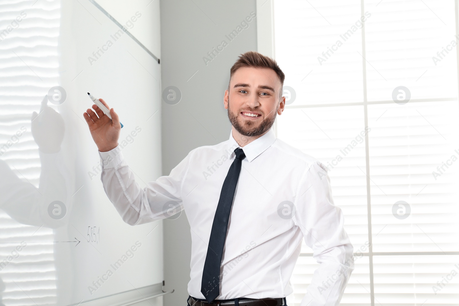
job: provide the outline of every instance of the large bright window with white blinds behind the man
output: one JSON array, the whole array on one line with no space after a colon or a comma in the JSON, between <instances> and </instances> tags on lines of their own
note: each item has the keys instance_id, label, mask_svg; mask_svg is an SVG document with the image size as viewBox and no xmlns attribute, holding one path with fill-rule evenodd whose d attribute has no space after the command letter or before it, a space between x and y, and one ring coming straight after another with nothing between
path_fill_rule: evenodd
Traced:
<instances>
[{"instance_id":1,"label":"large bright window with white blinds behind the man","mask_svg":"<svg viewBox=\"0 0 459 306\"><path fill-rule=\"evenodd\" d=\"M457 1L273 7L277 137L329 168L354 246L341 305L458 304ZM317 267L303 242L289 306Z\"/></svg>"}]
</instances>

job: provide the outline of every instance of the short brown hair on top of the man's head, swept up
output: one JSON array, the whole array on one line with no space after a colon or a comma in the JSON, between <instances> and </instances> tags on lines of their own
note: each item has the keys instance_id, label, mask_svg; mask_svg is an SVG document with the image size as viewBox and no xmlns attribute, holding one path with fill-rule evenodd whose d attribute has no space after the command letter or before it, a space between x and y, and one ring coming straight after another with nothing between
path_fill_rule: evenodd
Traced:
<instances>
[{"instance_id":1,"label":"short brown hair on top of the man's head, swept up","mask_svg":"<svg viewBox=\"0 0 459 306\"><path fill-rule=\"evenodd\" d=\"M280 70L277 62L269 56L264 56L257 51L247 51L242 53L238 60L234 63L233 67L229 70L229 82L231 82L231 77L241 67L255 67L255 68L270 68L276 72L277 76L280 79L280 87L284 86L285 74ZM229 83L228 83L229 90ZM280 90L280 96L282 96L282 89Z\"/></svg>"}]
</instances>

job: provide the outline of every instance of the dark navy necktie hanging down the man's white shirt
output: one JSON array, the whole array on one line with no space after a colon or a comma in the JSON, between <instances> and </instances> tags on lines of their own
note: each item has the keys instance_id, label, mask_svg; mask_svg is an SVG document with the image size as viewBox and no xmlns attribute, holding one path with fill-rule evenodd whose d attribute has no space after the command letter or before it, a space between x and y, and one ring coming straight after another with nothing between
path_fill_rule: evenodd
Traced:
<instances>
[{"instance_id":1,"label":"dark navy necktie hanging down the man's white shirt","mask_svg":"<svg viewBox=\"0 0 459 306\"><path fill-rule=\"evenodd\" d=\"M223 247L228 229L229 213L233 205L237 180L241 173L242 160L246 157L241 148L234 150L236 157L229 167L228 174L223 182L220 200L218 200L215 217L213 217L212 231L210 232L207 247L206 261L202 271L201 293L211 303L220 294L220 264L222 262Z\"/></svg>"}]
</instances>

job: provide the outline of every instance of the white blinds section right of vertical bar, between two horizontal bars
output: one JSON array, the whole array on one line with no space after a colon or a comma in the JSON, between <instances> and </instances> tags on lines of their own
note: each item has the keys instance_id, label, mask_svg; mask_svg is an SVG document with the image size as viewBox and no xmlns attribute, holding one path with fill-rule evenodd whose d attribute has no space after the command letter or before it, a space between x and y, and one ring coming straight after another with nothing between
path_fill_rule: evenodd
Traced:
<instances>
[{"instance_id":1,"label":"white blinds section right of vertical bar, between two horizontal bars","mask_svg":"<svg viewBox=\"0 0 459 306\"><path fill-rule=\"evenodd\" d=\"M371 105L368 115L373 251L458 251L457 100ZM409 211L397 218L399 201Z\"/></svg>"}]
</instances>

